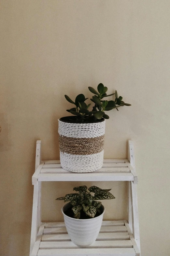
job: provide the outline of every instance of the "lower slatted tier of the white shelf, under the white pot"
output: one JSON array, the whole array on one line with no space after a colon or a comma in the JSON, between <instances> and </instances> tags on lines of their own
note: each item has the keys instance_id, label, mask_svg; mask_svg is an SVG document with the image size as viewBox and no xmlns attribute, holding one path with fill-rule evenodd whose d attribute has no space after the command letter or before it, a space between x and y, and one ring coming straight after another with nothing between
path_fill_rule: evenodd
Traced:
<instances>
[{"instance_id":1,"label":"lower slatted tier of the white shelf, under the white pot","mask_svg":"<svg viewBox=\"0 0 170 256\"><path fill-rule=\"evenodd\" d=\"M42 223L31 256L139 256L126 220L103 221L96 241L79 248L71 242L64 222Z\"/></svg>"}]
</instances>

